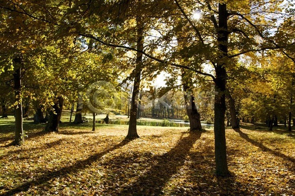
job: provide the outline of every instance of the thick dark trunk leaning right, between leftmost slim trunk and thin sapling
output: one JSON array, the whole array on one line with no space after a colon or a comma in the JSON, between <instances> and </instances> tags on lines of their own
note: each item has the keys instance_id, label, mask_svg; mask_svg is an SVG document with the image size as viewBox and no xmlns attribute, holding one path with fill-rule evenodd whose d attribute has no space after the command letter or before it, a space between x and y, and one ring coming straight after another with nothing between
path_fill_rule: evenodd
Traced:
<instances>
[{"instance_id":1,"label":"thick dark trunk leaning right, between leftmost slim trunk and thin sapling","mask_svg":"<svg viewBox=\"0 0 295 196\"><path fill-rule=\"evenodd\" d=\"M62 106L63 106L63 98L57 97L55 104L53 105L52 109L49 112L49 118L48 122L46 124L46 127L44 129L45 132L58 132L59 131L59 123L60 123L60 117L62 112Z\"/></svg>"}]
</instances>

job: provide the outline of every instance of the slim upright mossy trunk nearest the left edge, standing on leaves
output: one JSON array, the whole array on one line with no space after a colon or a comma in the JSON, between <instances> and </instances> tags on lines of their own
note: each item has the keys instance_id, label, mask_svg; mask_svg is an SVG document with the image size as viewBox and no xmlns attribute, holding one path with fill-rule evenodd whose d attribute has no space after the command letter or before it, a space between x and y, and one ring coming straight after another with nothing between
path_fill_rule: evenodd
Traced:
<instances>
[{"instance_id":1,"label":"slim upright mossy trunk nearest the left edge, standing on leaves","mask_svg":"<svg viewBox=\"0 0 295 196\"><path fill-rule=\"evenodd\" d=\"M21 60L16 58L14 59L16 63L21 63ZM17 69L13 74L14 78L14 90L15 90L15 101L17 105L14 106L15 110L15 138L14 144L21 145L25 142L24 130L23 130L23 107L22 107L22 98L21 98L21 68Z\"/></svg>"}]
</instances>

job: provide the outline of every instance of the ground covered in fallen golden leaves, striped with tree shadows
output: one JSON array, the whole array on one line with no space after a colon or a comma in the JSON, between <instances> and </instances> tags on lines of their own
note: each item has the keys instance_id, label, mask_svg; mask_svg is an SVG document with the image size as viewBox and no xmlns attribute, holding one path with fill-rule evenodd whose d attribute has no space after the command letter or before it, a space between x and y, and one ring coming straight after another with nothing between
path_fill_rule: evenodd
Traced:
<instances>
[{"instance_id":1,"label":"ground covered in fallen golden leaves, striped with tree shadows","mask_svg":"<svg viewBox=\"0 0 295 196\"><path fill-rule=\"evenodd\" d=\"M26 142L11 146L13 117L0 119L0 195L294 196L295 132L242 124L226 129L231 176L214 174L212 128L61 123L58 133L25 121Z\"/></svg>"}]
</instances>

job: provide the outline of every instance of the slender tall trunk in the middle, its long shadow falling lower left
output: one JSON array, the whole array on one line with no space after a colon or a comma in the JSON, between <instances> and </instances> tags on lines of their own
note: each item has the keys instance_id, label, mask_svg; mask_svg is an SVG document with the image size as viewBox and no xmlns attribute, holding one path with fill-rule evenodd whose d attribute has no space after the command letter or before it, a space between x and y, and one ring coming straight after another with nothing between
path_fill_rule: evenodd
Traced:
<instances>
[{"instance_id":1,"label":"slender tall trunk in the middle, its long shadow falling lower left","mask_svg":"<svg viewBox=\"0 0 295 196\"><path fill-rule=\"evenodd\" d=\"M142 19L139 16L136 18L136 25L137 25L137 49L139 51L143 51L144 49L143 33L144 32L143 32ZM135 78L134 78L133 92L132 92L132 98L131 98L129 128L128 128L128 134L126 136L127 139L139 138L137 134L137 129L136 129L136 120L137 120L137 99L138 99L138 93L140 89L142 61L143 61L143 54L141 52L137 52Z\"/></svg>"}]
</instances>

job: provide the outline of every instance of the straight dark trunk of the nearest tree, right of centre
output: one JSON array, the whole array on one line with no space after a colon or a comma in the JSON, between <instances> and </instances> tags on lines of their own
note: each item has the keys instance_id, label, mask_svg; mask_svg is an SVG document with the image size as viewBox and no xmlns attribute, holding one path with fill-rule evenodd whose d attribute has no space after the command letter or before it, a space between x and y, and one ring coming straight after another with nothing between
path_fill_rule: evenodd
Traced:
<instances>
[{"instance_id":1,"label":"straight dark trunk of the nearest tree, right of centre","mask_svg":"<svg viewBox=\"0 0 295 196\"><path fill-rule=\"evenodd\" d=\"M218 28L217 30L217 43L218 50L221 52L218 58L217 65L215 66L216 77L215 91L218 94L215 96L214 101L214 139L215 139L215 163L217 175L228 175L228 165L226 156L226 139L225 139L225 112L226 112L226 80L227 73L225 64L228 56L228 26L227 26L227 6L226 4L218 4Z\"/></svg>"}]
</instances>

